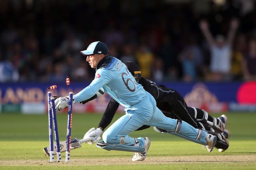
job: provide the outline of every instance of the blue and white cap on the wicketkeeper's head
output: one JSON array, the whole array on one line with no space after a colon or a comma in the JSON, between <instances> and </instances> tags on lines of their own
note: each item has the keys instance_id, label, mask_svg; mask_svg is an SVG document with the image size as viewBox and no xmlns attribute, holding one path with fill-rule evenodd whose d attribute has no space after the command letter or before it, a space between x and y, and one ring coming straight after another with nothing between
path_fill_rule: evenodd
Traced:
<instances>
[{"instance_id":1,"label":"blue and white cap on the wicketkeeper's head","mask_svg":"<svg viewBox=\"0 0 256 170\"><path fill-rule=\"evenodd\" d=\"M88 55L93 55L93 54L108 54L108 47L106 44L100 42L100 41L95 41L93 43L90 43L90 45L87 47L86 50L80 51L82 55L88 56Z\"/></svg>"}]
</instances>

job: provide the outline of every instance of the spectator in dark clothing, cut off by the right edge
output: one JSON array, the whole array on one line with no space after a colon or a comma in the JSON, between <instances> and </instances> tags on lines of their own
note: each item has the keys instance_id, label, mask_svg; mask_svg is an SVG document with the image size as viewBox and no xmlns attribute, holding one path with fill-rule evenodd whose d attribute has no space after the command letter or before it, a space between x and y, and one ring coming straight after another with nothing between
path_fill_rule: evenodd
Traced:
<instances>
[{"instance_id":1,"label":"spectator in dark clothing, cut off by the right edge","mask_svg":"<svg viewBox=\"0 0 256 170\"><path fill-rule=\"evenodd\" d=\"M248 53L242 61L244 79L256 80L256 39L250 40Z\"/></svg>"}]
</instances>

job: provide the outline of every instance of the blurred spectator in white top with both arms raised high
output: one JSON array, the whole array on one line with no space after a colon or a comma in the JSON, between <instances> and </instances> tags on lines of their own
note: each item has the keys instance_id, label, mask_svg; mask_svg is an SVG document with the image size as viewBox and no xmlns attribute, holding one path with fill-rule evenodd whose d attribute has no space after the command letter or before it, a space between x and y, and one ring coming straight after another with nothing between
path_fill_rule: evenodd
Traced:
<instances>
[{"instance_id":1,"label":"blurred spectator in white top with both arms raised high","mask_svg":"<svg viewBox=\"0 0 256 170\"><path fill-rule=\"evenodd\" d=\"M223 35L216 35L214 39L208 28L208 22L205 20L200 21L200 28L210 45L212 80L230 80L231 46L238 25L238 20L233 19L230 23L227 39Z\"/></svg>"}]
</instances>

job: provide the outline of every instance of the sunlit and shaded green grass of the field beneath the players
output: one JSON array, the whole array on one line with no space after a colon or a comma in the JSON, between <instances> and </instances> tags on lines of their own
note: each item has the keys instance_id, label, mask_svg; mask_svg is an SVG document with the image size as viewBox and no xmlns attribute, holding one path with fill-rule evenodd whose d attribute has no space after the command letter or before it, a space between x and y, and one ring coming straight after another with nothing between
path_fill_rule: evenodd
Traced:
<instances>
[{"instance_id":1,"label":"sunlit and shaded green grass of the field beneath the players","mask_svg":"<svg viewBox=\"0 0 256 170\"><path fill-rule=\"evenodd\" d=\"M45 115L20 115L0 114L0 168L1 169L256 169L256 114L254 113L226 113L228 116L228 129L231 133L230 147L225 152L214 149L211 153L202 150L201 146L178 138L174 135L156 133L152 127L143 131L135 131L132 137L150 137L151 146L147 159L166 156L215 156L212 161L179 161L159 162L146 164L132 162L121 165L83 165L76 160L88 160L93 158L127 158L131 160L131 152L106 151L95 145L82 144L82 147L71 151L70 162L64 162L65 154L62 154L60 163L48 163L49 158L44 155L42 149L49 145L48 142L48 116ZM116 115L118 119L121 115ZM220 116L214 114L214 117ZM100 114L73 114L72 138L82 139L84 133L91 127L97 127ZM58 129L60 140L66 138L67 115L58 114ZM251 156L255 161L220 160L218 156ZM12 161L16 163L12 164ZM21 162L20 164L17 162Z\"/></svg>"}]
</instances>

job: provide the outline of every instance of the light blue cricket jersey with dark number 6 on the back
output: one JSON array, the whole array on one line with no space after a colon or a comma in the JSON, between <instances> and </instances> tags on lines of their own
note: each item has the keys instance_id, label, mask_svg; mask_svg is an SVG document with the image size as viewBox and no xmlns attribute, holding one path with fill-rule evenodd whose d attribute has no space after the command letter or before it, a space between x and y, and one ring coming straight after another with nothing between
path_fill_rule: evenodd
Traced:
<instances>
[{"instance_id":1,"label":"light blue cricket jersey with dark number 6 on the back","mask_svg":"<svg viewBox=\"0 0 256 170\"><path fill-rule=\"evenodd\" d=\"M94 96L101 87L124 107L133 106L146 97L141 84L136 82L126 65L115 57L105 56L98 63L91 84L73 98L76 103L82 102Z\"/></svg>"}]
</instances>

